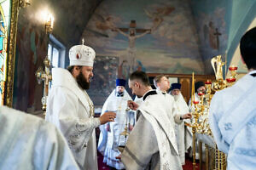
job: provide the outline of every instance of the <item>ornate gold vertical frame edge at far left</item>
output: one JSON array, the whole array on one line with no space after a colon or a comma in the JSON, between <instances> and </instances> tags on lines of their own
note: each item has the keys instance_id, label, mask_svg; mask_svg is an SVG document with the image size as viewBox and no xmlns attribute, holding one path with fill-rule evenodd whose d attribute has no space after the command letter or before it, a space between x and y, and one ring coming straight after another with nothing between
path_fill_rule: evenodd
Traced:
<instances>
[{"instance_id":1,"label":"ornate gold vertical frame edge at far left","mask_svg":"<svg viewBox=\"0 0 256 170\"><path fill-rule=\"evenodd\" d=\"M12 7L11 7L11 19L10 19L6 99L4 102L4 105L8 105L9 107L12 107L12 105L13 105L14 77L15 77L15 52L16 52L18 14L19 14L19 1L13 0Z\"/></svg>"}]
</instances>

